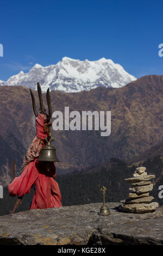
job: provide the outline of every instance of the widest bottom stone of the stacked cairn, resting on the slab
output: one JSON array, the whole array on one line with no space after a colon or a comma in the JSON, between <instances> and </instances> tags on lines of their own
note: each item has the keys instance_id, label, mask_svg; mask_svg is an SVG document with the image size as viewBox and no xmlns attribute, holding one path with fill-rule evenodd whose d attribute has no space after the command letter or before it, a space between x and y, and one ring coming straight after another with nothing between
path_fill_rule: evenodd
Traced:
<instances>
[{"instance_id":1,"label":"widest bottom stone of the stacked cairn, resting on the slab","mask_svg":"<svg viewBox=\"0 0 163 256\"><path fill-rule=\"evenodd\" d=\"M120 210L133 212L134 214L145 214L146 212L153 212L158 206L159 204L156 202L150 204L124 204L120 205Z\"/></svg>"}]
</instances>

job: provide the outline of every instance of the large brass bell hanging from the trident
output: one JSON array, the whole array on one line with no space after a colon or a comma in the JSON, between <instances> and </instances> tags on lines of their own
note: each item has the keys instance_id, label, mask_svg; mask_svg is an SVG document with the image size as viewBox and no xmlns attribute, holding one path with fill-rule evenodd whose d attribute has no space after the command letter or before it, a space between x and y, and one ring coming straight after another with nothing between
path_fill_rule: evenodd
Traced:
<instances>
[{"instance_id":1,"label":"large brass bell hanging from the trident","mask_svg":"<svg viewBox=\"0 0 163 256\"><path fill-rule=\"evenodd\" d=\"M59 162L57 156L56 156L56 149L51 145L51 142L54 141L54 139L51 137L51 141L47 141L47 145L45 145L40 152L40 156L37 159L37 161L44 161L44 162Z\"/></svg>"}]
</instances>

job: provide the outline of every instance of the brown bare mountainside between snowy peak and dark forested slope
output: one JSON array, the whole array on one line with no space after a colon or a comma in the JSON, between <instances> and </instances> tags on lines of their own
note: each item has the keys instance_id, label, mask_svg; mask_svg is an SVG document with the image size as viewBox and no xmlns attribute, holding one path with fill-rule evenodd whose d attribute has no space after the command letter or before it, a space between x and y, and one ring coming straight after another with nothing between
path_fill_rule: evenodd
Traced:
<instances>
[{"instance_id":1,"label":"brown bare mountainside between snowy peak and dark forested slope","mask_svg":"<svg viewBox=\"0 0 163 256\"><path fill-rule=\"evenodd\" d=\"M38 97L36 96L37 109ZM60 163L58 174L95 166L118 157L128 161L163 140L163 76L145 76L122 88L99 87L89 92L51 92L52 110L111 111L111 135L101 131L53 131ZM46 100L45 94L43 99ZM17 169L35 135L35 118L28 88L0 87L0 138L3 144L1 184L10 182L11 158ZM52 118L52 121L54 118ZM17 150L17 151L16 151ZM5 173L5 176L4 176Z\"/></svg>"}]
</instances>

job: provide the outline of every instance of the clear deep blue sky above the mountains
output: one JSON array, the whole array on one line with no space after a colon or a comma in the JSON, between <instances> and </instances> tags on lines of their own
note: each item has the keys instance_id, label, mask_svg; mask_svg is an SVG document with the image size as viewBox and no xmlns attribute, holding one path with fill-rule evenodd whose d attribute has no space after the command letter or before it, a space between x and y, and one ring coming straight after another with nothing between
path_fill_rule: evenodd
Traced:
<instances>
[{"instance_id":1,"label":"clear deep blue sky above the mountains","mask_svg":"<svg viewBox=\"0 0 163 256\"><path fill-rule=\"evenodd\" d=\"M112 59L131 75L163 74L163 2L1 1L0 80L63 57Z\"/></svg>"}]
</instances>

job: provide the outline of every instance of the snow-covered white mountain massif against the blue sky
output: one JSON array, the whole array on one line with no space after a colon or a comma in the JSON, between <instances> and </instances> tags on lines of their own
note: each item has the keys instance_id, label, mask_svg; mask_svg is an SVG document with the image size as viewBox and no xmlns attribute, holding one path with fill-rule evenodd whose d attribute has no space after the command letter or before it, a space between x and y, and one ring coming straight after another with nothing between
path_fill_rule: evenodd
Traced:
<instances>
[{"instance_id":1,"label":"snow-covered white mountain massif against the blue sky","mask_svg":"<svg viewBox=\"0 0 163 256\"><path fill-rule=\"evenodd\" d=\"M21 71L6 82L0 80L0 86L22 85L36 89L37 82L40 82L42 92L50 88L72 93L99 86L118 88L134 80L136 80L134 76L128 74L120 64L114 63L111 59L82 61L64 57L56 65L43 67L35 64L28 73Z\"/></svg>"}]
</instances>

